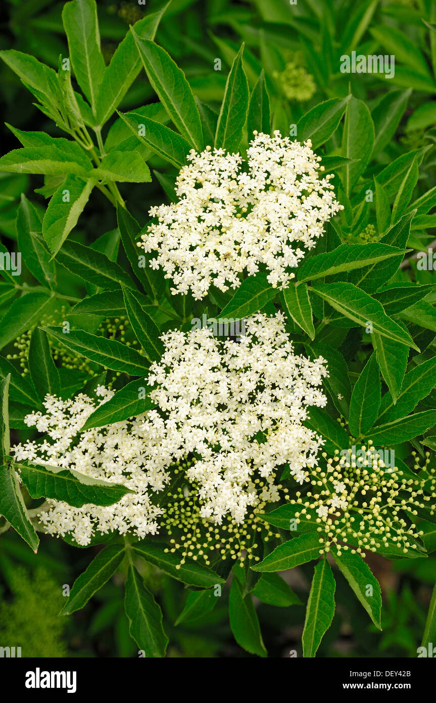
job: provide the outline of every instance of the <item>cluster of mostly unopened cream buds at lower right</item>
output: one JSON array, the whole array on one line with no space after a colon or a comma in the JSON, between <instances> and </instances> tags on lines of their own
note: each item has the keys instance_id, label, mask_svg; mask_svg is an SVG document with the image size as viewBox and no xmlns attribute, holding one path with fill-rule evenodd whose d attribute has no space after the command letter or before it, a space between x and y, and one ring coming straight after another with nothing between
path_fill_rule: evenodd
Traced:
<instances>
[{"instance_id":1,"label":"cluster of mostly unopened cream buds at lower right","mask_svg":"<svg viewBox=\"0 0 436 703\"><path fill-rule=\"evenodd\" d=\"M374 451L369 441L362 446L364 460L356 460L349 452L326 460L324 470L310 476L312 490L296 494L290 503L301 510L297 522L316 520L319 525L320 553L335 548L352 553L383 551L402 555L417 549L422 536L412 516L419 510L430 515L436 510L435 470L428 470L429 459L420 475L407 467L387 467L381 451ZM326 453L322 456L326 459ZM416 466L415 468L419 468Z\"/></svg>"}]
</instances>

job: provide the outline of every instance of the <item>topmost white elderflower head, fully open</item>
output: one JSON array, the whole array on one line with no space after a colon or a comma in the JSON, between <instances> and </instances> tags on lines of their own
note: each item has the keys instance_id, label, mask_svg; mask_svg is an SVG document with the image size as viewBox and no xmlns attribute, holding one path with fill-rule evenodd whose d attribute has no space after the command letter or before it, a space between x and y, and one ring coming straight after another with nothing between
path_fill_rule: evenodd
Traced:
<instances>
[{"instance_id":1,"label":"topmost white elderflower head, fully open","mask_svg":"<svg viewBox=\"0 0 436 703\"><path fill-rule=\"evenodd\" d=\"M254 132L246 162L223 149L190 151L176 181L178 202L152 207L158 222L138 242L157 251L150 266L173 279L173 295L191 290L202 299L212 285L237 288L242 273L260 270L273 287L289 285L289 269L343 208L311 146L275 131Z\"/></svg>"}]
</instances>

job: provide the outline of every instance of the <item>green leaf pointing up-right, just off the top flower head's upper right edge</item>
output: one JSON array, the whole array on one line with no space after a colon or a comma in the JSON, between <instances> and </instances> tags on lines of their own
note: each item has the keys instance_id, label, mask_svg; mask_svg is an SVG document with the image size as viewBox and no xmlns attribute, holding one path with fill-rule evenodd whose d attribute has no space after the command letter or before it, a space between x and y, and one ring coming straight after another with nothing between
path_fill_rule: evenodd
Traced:
<instances>
[{"instance_id":1,"label":"green leaf pointing up-right, just off the top flower head's upper right edge","mask_svg":"<svg viewBox=\"0 0 436 703\"><path fill-rule=\"evenodd\" d=\"M346 98L331 98L306 112L297 124L299 141L303 143L303 141L311 139L314 150L329 141L329 138L338 129L339 122L341 122L350 100L350 95Z\"/></svg>"}]
</instances>

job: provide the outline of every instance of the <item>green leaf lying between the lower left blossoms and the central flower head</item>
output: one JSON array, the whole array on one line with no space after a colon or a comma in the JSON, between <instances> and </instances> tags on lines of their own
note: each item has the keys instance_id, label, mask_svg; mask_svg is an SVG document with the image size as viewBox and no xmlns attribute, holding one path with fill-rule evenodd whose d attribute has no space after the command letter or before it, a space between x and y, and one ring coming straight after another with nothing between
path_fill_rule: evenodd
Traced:
<instances>
[{"instance_id":1,"label":"green leaf lying between the lower left blossoms and the central flower head","mask_svg":"<svg viewBox=\"0 0 436 703\"><path fill-rule=\"evenodd\" d=\"M152 388L146 385L144 379L131 381L89 415L86 423L81 427L81 432L90 430L91 427L104 427L143 415L154 408L149 395L151 390Z\"/></svg>"}]
</instances>

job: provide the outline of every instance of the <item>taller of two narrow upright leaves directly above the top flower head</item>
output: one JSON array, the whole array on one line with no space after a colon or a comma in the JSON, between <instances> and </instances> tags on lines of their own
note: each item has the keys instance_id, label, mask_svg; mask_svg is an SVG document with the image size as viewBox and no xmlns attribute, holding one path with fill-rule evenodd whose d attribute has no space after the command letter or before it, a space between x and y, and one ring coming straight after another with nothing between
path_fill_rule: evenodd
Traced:
<instances>
[{"instance_id":1,"label":"taller of two narrow upright leaves directly above the top flower head","mask_svg":"<svg viewBox=\"0 0 436 703\"><path fill-rule=\"evenodd\" d=\"M230 153L239 150L249 108L249 84L242 65L243 51L244 44L234 57L232 68L227 76L223 103L221 103L216 125L215 146Z\"/></svg>"}]
</instances>

